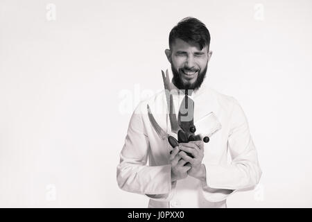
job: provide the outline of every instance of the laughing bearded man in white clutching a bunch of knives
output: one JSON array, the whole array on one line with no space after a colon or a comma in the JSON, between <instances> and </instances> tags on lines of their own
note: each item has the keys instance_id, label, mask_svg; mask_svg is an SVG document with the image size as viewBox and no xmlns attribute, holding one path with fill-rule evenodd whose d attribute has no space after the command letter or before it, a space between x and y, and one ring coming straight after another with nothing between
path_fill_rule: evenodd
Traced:
<instances>
[{"instance_id":1,"label":"laughing bearded man in white clutching a bunch of knives","mask_svg":"<svg viewBox=\"0 0 312 222\"><path fill-rule=\"evenodd\" d=\"M148 207L227 207L229 195L254 187L261 178L241 105L205 84L209 44L205 24L187 17L171 30L165 50L173 75L168 83L171 105L181 110L185 99L193 102L191 133L198 135L190 139L188 134L189 139L173 146L159 136L149 111L164 132L176 133L166 90L141 101L130 119L117 182L125 191L148 196Z\"/></svg>"}]
</instances>

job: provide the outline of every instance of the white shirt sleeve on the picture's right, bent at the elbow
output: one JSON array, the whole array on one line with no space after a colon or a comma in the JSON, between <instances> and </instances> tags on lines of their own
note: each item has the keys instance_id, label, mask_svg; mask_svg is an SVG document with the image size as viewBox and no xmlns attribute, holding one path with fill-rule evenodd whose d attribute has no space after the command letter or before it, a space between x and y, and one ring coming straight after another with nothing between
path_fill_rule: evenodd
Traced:
<instances>
[{"instance_id":1,"label":"white shirt sleeve on the picture's right, bent at the elbow","mask_svg":"<svg viewBox=\"0 0 312 222\"><path fill-rule=\"evenodd\" d=\"M232 162L224 165L205 164L206 182L203 182L202 189L212 201L224 200L239 189L254 187L262 174L248 121L241 105L234 98L233 101L227 140Z\"/></svg>"}]
</instances>

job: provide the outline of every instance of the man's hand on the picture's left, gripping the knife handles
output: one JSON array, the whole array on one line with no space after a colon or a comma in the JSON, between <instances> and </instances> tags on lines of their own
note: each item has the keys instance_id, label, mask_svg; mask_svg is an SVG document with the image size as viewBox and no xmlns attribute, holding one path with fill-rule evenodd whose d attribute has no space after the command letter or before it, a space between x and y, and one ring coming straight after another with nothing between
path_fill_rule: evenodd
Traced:
<instances>
[{"instance_id":1,"label":"man's hand on the picture's left, gripping the knife handles","mask_svg":"<svg viewBox=\"0 0 312 222\"><path fill-rule=\"evenodd\" d=\"M187 178L187 171L191 169L189 164L184 166L184 164L187 162L183 160L180 155L178 155L179 151L179 146L175 146L170 155L169 160L171 161L171 182Z\"/></svg>"}]
</instances>

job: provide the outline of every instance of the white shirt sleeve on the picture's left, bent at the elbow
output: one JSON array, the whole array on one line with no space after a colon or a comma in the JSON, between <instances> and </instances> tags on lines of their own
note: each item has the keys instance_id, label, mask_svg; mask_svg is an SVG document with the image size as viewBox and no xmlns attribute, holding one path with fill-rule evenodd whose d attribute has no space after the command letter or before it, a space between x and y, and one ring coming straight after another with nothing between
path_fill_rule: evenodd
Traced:
<instances>
[{"instance_id":1,"label":"white shirt sleeve on the picture's left, bent at the elbow","mask_svg":"<svg viewBox=\"0 0 312 222\"><path fill-rule=\"evenodd\" d=\"M171 197L171 165L146 166L150 144L142 117L144 105L141 103L130 119L117 166L117 182L124 191L168 200Z\"/></svg>"}]
</instances>

